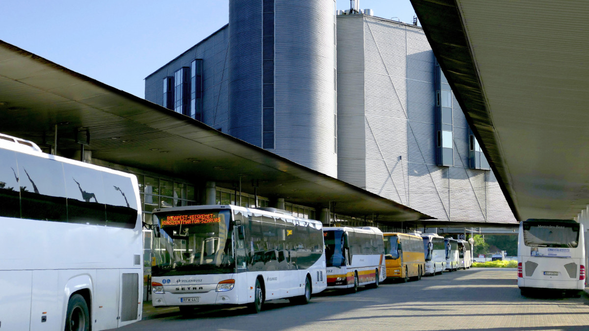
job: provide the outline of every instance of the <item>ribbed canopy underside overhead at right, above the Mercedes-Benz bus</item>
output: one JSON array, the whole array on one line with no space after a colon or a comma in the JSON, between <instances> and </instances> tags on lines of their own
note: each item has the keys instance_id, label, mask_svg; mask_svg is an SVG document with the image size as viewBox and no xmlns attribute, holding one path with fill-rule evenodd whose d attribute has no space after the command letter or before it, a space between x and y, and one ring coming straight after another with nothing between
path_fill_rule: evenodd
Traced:
<instances>
[{"instance_id":1,"label":"ribbed canopy underside overhead at right, above the Mercedes-Benz bus","mask_svg":"<svg viewBox=\"0 0 589 331\"><path fill-rule=\"evenodd\" d=\"M589 2L412 0L519 220L589 203Z\"/></svg>"}]
</instances>

